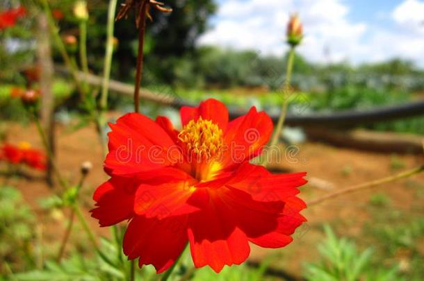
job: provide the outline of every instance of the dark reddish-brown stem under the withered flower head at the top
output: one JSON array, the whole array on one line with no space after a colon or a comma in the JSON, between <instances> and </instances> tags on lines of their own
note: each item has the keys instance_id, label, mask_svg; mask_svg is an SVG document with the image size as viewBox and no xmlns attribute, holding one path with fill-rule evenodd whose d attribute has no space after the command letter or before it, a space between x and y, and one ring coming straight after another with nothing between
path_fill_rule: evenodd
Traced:
<instances>
[{"instance_id":1,"label":"dark reddish-brown stem under the withered flower head at the top","mask_svg":"<svg viewBox=\"0 0 424 281\"><path fill-rule=\"evenodd\" d=\"M140 10L140 26L138 27L138 56L136 69L136 85L134 87L134 111L140 112L140 84L145 46L146 9L149 1L142 3Z\"/></svg>"}]
</instances>

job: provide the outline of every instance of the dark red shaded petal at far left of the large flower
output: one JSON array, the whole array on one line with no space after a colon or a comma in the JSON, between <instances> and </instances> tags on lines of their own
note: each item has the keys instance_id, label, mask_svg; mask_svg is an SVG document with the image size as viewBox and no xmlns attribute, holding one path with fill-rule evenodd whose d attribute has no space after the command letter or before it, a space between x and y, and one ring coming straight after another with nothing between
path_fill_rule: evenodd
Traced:
<instances>
[{"instance_id":1,"label":"dark red shaded petal at far left of the large flower","mask_svg":"<svg viewBox=\"0 0 424 281\"><path fill-rule=\"evenodd\" d=\"M97 187L93 199L96 208L91 216L101 226L113 225L133 216L134 193L138 183L128 178L114 177Z\"/></svg>"}]
</instances>

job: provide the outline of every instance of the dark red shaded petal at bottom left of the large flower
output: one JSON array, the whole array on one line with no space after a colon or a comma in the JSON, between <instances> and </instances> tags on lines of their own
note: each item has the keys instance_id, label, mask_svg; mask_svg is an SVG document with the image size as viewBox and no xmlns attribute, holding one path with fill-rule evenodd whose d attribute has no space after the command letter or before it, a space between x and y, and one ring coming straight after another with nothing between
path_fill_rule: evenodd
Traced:
<instances>
[{"instance_id":1,"label":"dark red shaded petal at bottom left of the large flower","mask_svg":"<svg viewBox=\"0 0 424 281\"><path fill-rule=\"evenodd\" d=\"M153 264L162 273L174 264L187 244L186 216L147 219L135 216L124 236L124 253L138 264Z\"/></svg>"}]
</instances>

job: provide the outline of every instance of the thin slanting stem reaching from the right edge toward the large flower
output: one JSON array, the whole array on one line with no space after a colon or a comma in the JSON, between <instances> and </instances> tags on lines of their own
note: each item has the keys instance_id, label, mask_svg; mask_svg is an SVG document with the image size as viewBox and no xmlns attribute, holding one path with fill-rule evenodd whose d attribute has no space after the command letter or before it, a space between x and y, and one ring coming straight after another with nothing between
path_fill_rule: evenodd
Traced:
<instances>
[{"instance_id":1,"label":"thin slanting stem reaching from the right edge toward the large flower","mask_svg":"<svg viewBox=\"0 0 424 281\"><path fill-rule=\"evenodd\" d=\"M327 201L329 199L334 199L336 197L339 197L339 196L342 196L342 195L345 195L345 194L350 194L352 192L356 192L356 191L359 191L359 190L368 189L368 188L371 188L371 187L376 187L378 185L383 185L384 183L388 183L388 182L394 182L394 181L400 180L402 178L409 178L410 176L414 176L418 173L422 173L423 171L424 171L424 166L421 166L421 167L411 169L409 171L398 173L395 176L389 176L387 178L382 178L380 180L373 180L371 182L365 182L365 183L362 183L360 185L354 185L353 187L347 187L345 189L341 189L339 191L336 191L332 194L327 194L327 195L322 196L320 198L313 199L312 201L309 201L307 203L307 205L308 206L317 205L319 203L322 203L323 201Z\"/></svg>"}]
</instances>

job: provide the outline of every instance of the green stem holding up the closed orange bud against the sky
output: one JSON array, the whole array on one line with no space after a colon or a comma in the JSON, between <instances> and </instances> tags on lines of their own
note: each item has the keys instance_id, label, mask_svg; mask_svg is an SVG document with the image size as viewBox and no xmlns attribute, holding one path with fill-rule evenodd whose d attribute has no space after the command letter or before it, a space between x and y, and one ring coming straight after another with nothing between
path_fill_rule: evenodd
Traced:
<instances>
[{"instance_id":1,"label":"green stem holding up the closed orange bud against the sky","mask_svg":"<svg viewBox=\"0 0 424 281\"><path fill-rule=\"evenodd\" d=\"M284 127L284 120L286 119L287 114L287 108L288 108L288 98L289 98L289 91L290 91L290 80L291 80L291 74L293 71L293 60L295 57L295 48L291 47L290 51L288 52L288 60L287 60L287 68L286 68L286 80L284 81L284 89L283 89L283 105L282 105L282 111L279 115L277 126L275 127L274 135L272 136L272 141L270 143L270 146L275 146L278 142L279 136L282 133L283 127Z\"/></svg>"}]
</instances>

